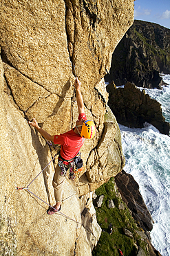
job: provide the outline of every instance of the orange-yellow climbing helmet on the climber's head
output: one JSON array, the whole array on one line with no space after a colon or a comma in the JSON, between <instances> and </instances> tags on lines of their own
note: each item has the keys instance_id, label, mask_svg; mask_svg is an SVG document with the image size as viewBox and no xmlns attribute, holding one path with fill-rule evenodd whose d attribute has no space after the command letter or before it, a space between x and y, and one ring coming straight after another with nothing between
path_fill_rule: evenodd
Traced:
<instances>
[{"instance_id":1,"label":"orange-yellow climbing helmet on the climber's head","mask_svg":"<svg viewBox=\"0 0 170 256\"><path fill-rule=\"evenodd\" d=\"M85 120L81 129L81 137L83 138L94 138L96 134L96 126L91 120Z\"/></svg>"}]
</instances>

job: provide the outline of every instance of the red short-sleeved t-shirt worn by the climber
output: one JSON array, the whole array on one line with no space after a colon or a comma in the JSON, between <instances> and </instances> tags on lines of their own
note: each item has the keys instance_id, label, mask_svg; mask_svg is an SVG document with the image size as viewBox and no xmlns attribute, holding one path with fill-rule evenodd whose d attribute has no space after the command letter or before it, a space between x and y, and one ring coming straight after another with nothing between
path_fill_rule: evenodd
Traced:
<instances>
[{"instance_id":1,"label":"red short-sleeved t-shirt worn by the climber","mask_svg":"<svg viewBox=\"0 0 170 256\"><path fill-rule=\"evenodd\" d=\"M85 113L80 113L78 116L78 120L87 120ZM74 128L75 129L75 128ZM74 132L74 129L71 131L65 132L65 134L55 135L54 136L54 144L61 145L61 156L70 160L78 154L81 147L85 142L85 138L82 138L79 134Z\"/></svg>"}]
</instances>

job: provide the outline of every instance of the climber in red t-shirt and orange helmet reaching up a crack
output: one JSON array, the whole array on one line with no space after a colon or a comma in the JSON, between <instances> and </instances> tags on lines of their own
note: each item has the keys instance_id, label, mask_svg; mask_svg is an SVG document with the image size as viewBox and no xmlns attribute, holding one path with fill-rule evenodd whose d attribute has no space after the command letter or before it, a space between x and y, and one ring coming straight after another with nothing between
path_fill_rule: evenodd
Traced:
<instances>
[{"instance_id":1,"label":"climber in red t-shirt and orange helmet reaching up a crack","mask_svg":"<svg viewBox=\"0 0 170 256\"><path fill-rule=\"evenodd\" d=\"M50 140L54 144L61 145L59 162L55 168L54 178L52 181L56 204L47 210L47 214L54 214L61 210L63 185L67 170L70 170L70 178L74 178L75 163L82 163L79 150L83 146L85 138L94 138L96 134L94 122L87 120L87 117L85 116L83 97L81 95L81 82L77 77L74 82L74 86L76 89L76 102L78 105L78 120L76 121L76 127L64 134L50 135L47 133L47 131L44 131L41 127L39 127L35 119L33 119L32 122L28 122L32 127L39 131L39 133L46 140ZM76 159L78 159L78 161L76 161ZM81 167L82 165L78 165L78 167Z\"/></svg>"}]
</instances>

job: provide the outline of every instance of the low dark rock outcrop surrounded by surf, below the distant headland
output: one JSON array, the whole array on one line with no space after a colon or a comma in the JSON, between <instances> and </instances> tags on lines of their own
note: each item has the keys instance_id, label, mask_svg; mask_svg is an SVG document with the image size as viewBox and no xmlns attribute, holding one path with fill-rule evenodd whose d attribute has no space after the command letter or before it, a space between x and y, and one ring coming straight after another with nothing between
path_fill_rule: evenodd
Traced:
<instances>
[{"instance_id":1,"label":"low dark rock outcrop surrounded by surf, below the distant headland","mask_svg":"<svg viewBox=\"0 0 170 256\"><path fill-rule=\"evenodd\" d=\"M130 82L127 82L124 88L116 89L115 84L111 82L107 91L109 107L118 123L127 127L142 128L145 122L149 122L162 134L169 135L170 125L162 116L161 104L145 94L145 89L140 91Z\"/></svg>"}]
</instances>

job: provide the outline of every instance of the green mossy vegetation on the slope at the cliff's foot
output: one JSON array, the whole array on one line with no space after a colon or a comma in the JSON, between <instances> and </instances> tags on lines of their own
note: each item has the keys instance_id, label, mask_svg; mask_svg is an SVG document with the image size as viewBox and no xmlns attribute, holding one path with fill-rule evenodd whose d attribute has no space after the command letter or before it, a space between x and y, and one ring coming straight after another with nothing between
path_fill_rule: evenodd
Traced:
<instances>
[{"instance_id":1,"label":"green mossy vegetation on the slope at the cliff's foot","mask_svg":"<svg viewBox=\"0 0 170 256\"><path fill-rule=\"evenodd\" d=\"M115 189L114 178L111 178L107 183L103 184L96 190L96 194L104 195L103 204L100 208L96 207L96 215L98 224L102 228L102 234L97 246L92 251L94 256L116 256L119 255L118 248L122 250L123 255L134 256L137 255L138 246L146 251L147 242L142 241L136 230L139 228L131 217L129 209L123 203L120 194ZM109 200L114 201L115 208L109 208ZM123 208L120 210L120 205ZM109 233L112 228L112 233ZM126 228L133 234L133 238L127 237L124 234L123 228Z\"/></svg>"}]
</instances>

